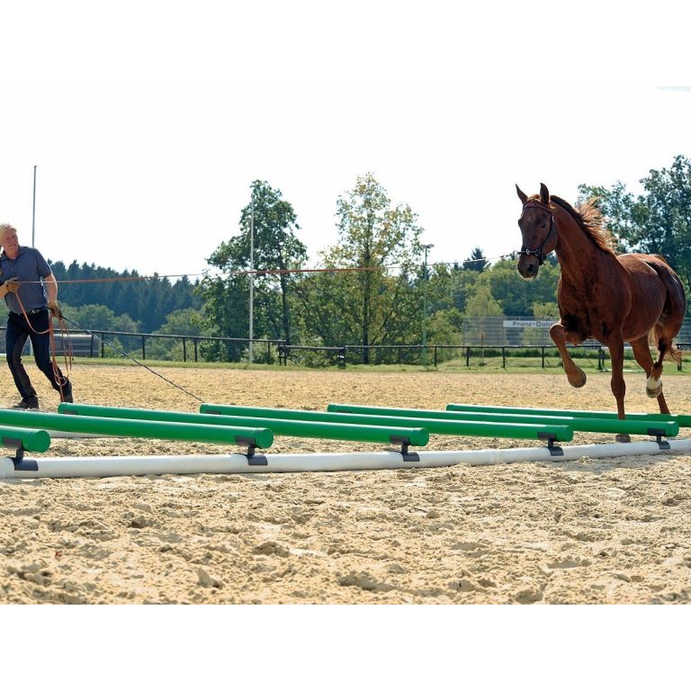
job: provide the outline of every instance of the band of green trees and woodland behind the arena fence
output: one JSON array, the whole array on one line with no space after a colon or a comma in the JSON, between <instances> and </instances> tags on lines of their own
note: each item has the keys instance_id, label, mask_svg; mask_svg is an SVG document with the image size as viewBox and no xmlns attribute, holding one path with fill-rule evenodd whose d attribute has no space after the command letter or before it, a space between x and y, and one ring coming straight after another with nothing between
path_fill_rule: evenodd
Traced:
<instances>
[{"instance_id":1,"label":"band of green trees and woodland behind the arena fence","mask_svg":"<svg viewBox=\"0 0 691 691\"><path fill-rule=\"evenodd\" d=\"M669 168L651 170L640 182L637 194L621 182L581 184L575 202L596 197L622 251L665 256L688 287L691 161L675 157ZM428 266L417 214L392 204L371 174L359 176L337 200L337 243L320 253L314 271L305 271L308 253L298 216L283 193L256 180L249 196L238 233L208 259L213 273L194 283L166 277L142 282L136 272L55 262L58 281L80 282L61 284L63 305L90 329L247 338L252 264L254 336L289 344L413 345L425 339L459 345L468 317L558 317L560 269L553 255L531 282L521 279L513 260L489 264L480 247L458 264ZM210 342L202 356L226 359L224 347ZM179 351L171 343L157 348L160 357ZM233 356L242 353L236 349Z\"/></svg>"}]
</instances>

